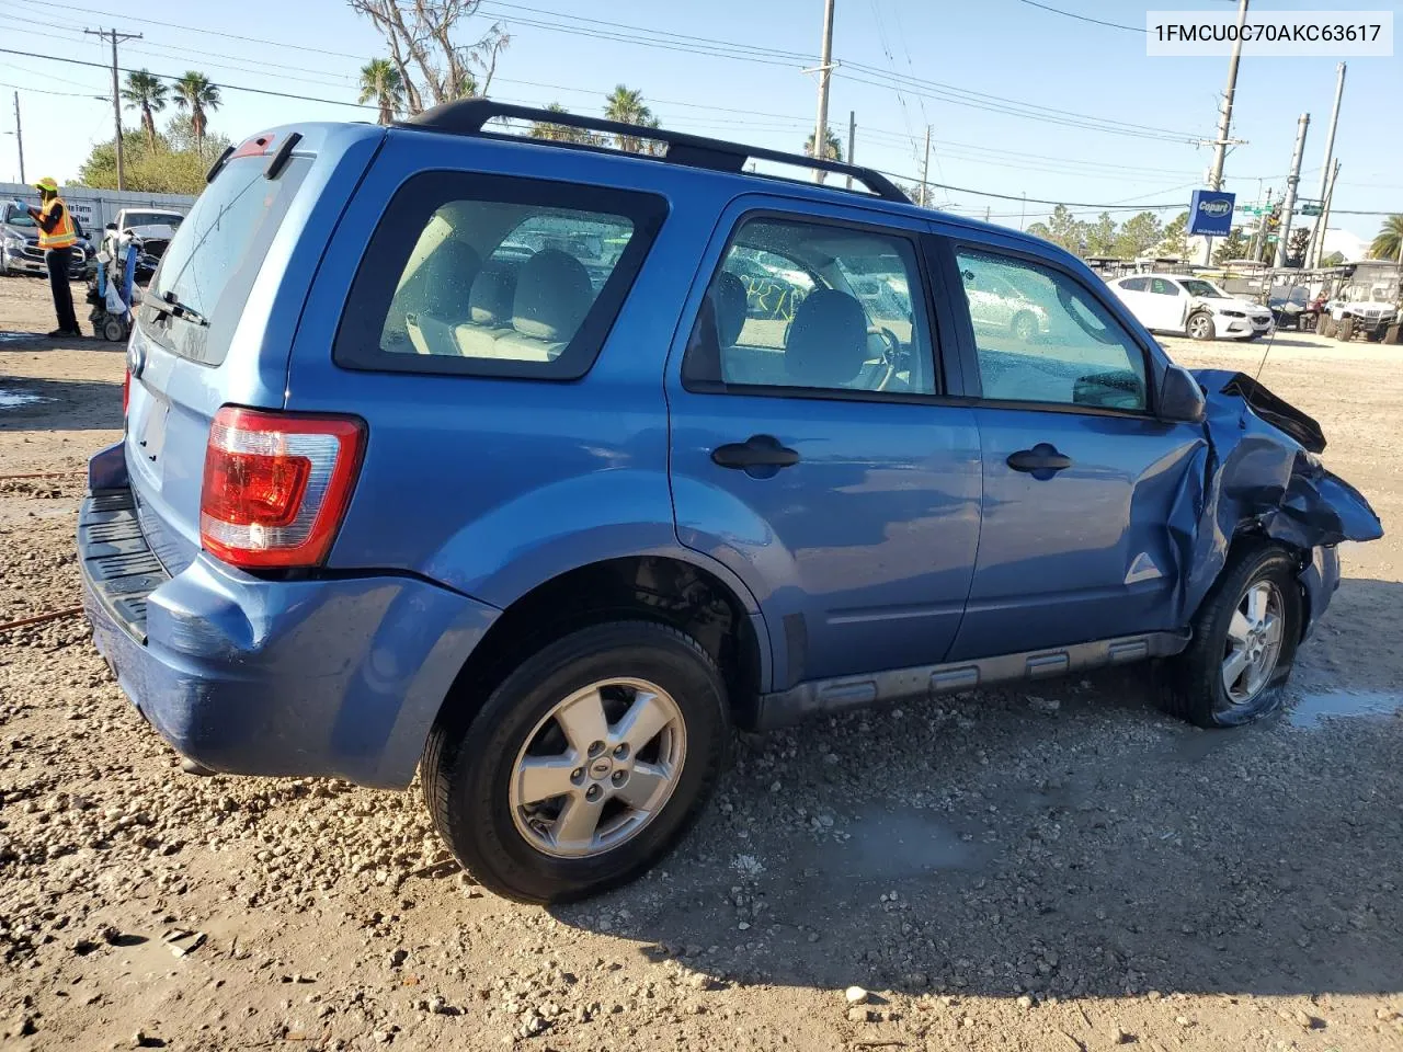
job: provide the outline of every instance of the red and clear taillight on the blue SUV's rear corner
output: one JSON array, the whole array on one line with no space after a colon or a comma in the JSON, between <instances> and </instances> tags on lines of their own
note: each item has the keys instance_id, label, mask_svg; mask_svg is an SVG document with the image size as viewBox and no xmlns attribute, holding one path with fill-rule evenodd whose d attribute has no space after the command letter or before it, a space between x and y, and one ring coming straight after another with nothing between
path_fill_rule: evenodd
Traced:
<instances>
[{"instance_id":1,"label":"red and clear taillight on the blue SUV's rear corner","mask_svg":"<svg viewBox=\"0 0 1403 1052\"><path fill-rule=\"evenodd\" d=\"M331 551L365 424L226 405L205 450L199 541L236 567L314 567Z\"/></svg>"}]
</instances>

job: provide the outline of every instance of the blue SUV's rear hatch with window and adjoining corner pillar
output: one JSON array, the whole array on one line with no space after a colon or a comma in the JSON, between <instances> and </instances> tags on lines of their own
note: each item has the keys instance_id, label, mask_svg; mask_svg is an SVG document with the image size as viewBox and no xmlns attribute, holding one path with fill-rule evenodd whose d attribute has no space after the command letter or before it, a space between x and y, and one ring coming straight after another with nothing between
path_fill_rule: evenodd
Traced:
<instances>
[{"instance_id":1,"label":"blue SUV's rear hatch with window and adjoining corner pillar","mask_svg":"<svg viewBox=\"0 0 1403 1052\"><path fill-rule=\"evenodd\" d=\"M279 157L289 139L292 154ZM128 348L126 464L142 532L171 574L199 553L210 422L222 405L283 407L307 288L382 139L363 125L250 139L201 194L143 293Z\"/></svg>"}]
</instances>

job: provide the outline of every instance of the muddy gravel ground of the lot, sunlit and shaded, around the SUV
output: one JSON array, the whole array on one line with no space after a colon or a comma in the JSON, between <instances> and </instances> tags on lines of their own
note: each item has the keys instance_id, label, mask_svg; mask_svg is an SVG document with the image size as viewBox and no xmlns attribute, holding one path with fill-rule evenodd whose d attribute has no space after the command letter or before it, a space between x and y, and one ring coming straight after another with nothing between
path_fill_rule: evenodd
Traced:
<instances>
[{"instance_id":1,"label":"muddy gravel ground of the lot, sunlit and shaded, around the SUV","mask_svg":"<svg viewBox=\"0 0 1403 1052\"><path fill-rule=\"evenodd\" d=\"M42 398L0 398L0 621L79 595L80 476L14 476L121 426L121 351L10 335L51 325L0 282L0 389ZM1263 379L1403 520L1403 353L1285 334ZM11 630L0 1045L1400 1049L1399 553L1345 553L1266 725L1174 722L1139 672L745 739L659 870L551 910L469 884L417 791L181 774L80 619Z\"/></svg>"}]
</instances>

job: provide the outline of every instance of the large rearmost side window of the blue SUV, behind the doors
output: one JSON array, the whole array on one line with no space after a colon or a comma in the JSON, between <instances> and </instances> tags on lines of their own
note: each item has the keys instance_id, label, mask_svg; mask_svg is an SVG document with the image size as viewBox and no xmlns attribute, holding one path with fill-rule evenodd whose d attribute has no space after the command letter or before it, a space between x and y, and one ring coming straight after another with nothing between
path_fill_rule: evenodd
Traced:
<instances>
[{"instance_id":1,"label":"large rearmost side window of the blue SUV, behind the doors","mask_svg":"<svg viewBox=\"0 0 1403 1052\"><path fill-rule=\"evenodd\" d=\"M578 379L593 365L665 213L665 201L648 194L417 175L370 238L335 362Z\"/></svg>"}]
</instances>

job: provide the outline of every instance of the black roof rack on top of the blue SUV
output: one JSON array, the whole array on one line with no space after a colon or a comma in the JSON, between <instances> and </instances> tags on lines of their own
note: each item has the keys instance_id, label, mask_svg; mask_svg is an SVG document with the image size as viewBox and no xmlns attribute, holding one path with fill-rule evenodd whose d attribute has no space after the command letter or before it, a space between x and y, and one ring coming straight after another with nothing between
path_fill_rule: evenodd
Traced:
<instances>
[{"instance_id":1,"label":"black roof rack on top of the blue SUV","mask_svg":"<svg viewBox=\"0 0 1403 1052\"><path fill-rule=\"evenodd\" d=\"M490 98L462 98L456 102L427 109L407 121L397 121L401 128L419 128L434 132L449 132L452 135L492 135L484 132L483 126L488 121L499 118L515 118L518 121L539 121L542 123L564 125L565 128L582 128L588 132L607 132L609 135L629 136L630 139L651 139L666 143L668 151L662 160L669 164L685 164L692 168L709 168L711 171L744 171L749 160L777 161L793 164L801 168L831 171L839 175L852 175L861 182L871 194L882 201L898 201L909 205L911 198L878 171L863 168L856 164L843 164L819 157L805 157L798 153L784 153L781 150L765 150L758 146L742 143L728 143L723 139L707 139L700 135L686 135L669 132L664 128L640 128L638 125L623 123L622 121L606 121L595 116L579 116L556 109L536 109L535 107L512 105L509 102L494 102ZM546 140L542 140L543 143ZM568 146L568 143L551 143Z\"/></svg>"}]
</instances>

